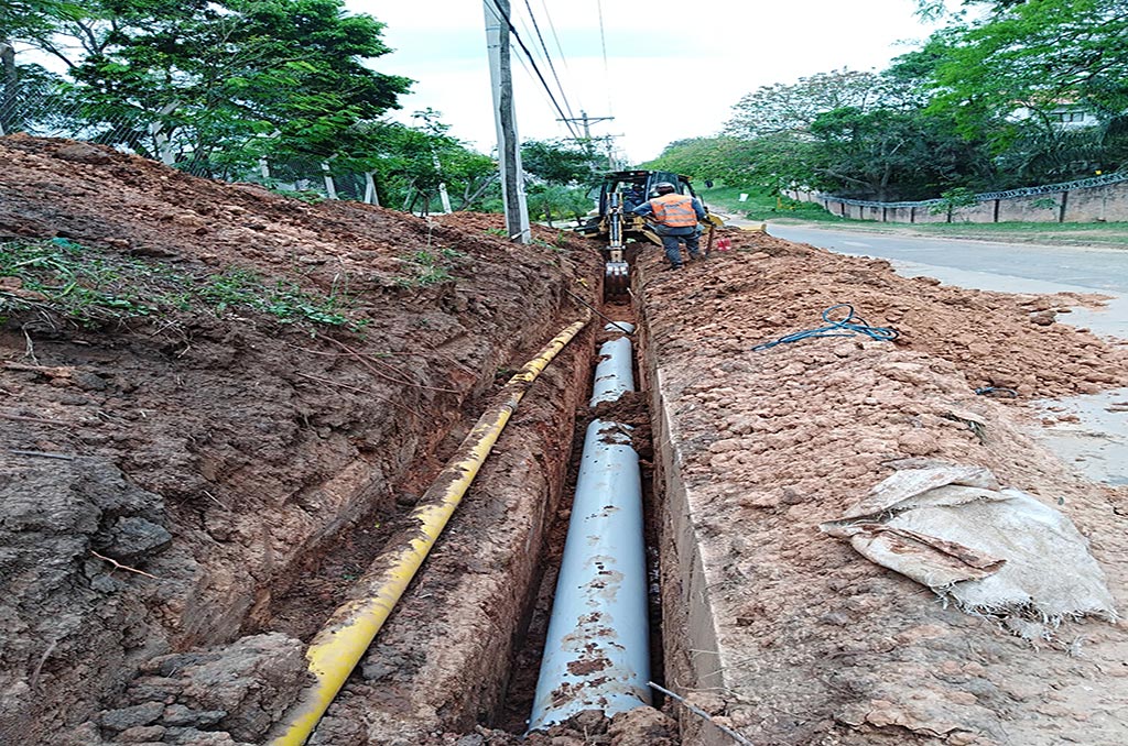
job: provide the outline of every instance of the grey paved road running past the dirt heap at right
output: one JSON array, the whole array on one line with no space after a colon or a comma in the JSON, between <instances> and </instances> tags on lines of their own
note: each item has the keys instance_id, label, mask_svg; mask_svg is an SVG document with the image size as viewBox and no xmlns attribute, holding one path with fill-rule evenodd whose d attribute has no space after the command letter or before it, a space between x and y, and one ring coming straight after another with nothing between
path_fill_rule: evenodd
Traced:
<instances>
[{"instance_id":1,"label":"grey paved road running past the dirt heap at right","mask_svg":"<svg viewBox=\"0 0 1128 746\"><path fill-rule=\"evenodd\" d=\"M909 238L775 224L768 232L843 254L1128 294L1128 251L1121 249Z\"/></svg>"}]
</instances>

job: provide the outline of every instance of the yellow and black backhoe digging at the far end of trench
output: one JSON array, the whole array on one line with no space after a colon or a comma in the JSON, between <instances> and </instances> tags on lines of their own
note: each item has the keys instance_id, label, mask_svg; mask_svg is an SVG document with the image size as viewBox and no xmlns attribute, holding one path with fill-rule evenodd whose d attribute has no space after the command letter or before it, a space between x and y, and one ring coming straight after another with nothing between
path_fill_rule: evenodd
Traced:
<instances>
[{"instance_id":1,"label":"yellow and black backhoe digging at the far end of trench","mask_svg":"<svg viewBox=\"0 0 1128 746\"><path fill-rule=\"evenodd\" d=\"M678 194L688 194L699 199L697 193L689 185L689 177L671 171L613 171L606 174L599 184L598 211L575 229L575 232L581 236L606 242L599 249L603 255L605 297L625 295L627 292L631 281L625 250L628 242L651 241L658 246L662 245L662 238L654 231L653 225L645 217L633 212L635 206L656 196L654 186L662 181L675 185ZM704 206L704 202L702 202L702 206ZM724 222L710 213L708 207L705 207L705 213L706 219L702 222L702 227L710 231L710 239L712 239L713 228L723 225Z\"/></svg>"}]
</instances>

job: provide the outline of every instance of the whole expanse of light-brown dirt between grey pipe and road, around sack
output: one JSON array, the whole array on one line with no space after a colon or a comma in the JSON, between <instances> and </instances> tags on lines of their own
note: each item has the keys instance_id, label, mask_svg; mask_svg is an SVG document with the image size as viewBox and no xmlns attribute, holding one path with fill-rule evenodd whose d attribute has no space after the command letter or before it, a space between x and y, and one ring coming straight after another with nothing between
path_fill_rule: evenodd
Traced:
<instances>
[{"instance_id":1,"label":"whole expanse of light-brown dirt between grey pipe and road, around sack","mask_svg":"<svg viewBox=\"0 0 1128 746\"><path fill-rule=\"evenodd\" d=\"M682 273L644 260L672 421L660 436L679 469L669 499L704 567L685 593L708 600L713 636L679 630L684 612L668 607L667 632L691 649L668 676L711 690L707 709L754 743L1122 743L1122 625L1069 622L1032 647L1006 629L1021 620L943 607L819 524L907 464L982 465L1072 518L1122 605L1122 490L1084 481L1023 427L1031 397L1123 385L1123 348L1039 316L1076 299L937 286L764 236L734 246ZM900 337L752 350L823 326L839 303ZM976 396L985 385L1020 397Z\"/></svg>"}]
</instances>

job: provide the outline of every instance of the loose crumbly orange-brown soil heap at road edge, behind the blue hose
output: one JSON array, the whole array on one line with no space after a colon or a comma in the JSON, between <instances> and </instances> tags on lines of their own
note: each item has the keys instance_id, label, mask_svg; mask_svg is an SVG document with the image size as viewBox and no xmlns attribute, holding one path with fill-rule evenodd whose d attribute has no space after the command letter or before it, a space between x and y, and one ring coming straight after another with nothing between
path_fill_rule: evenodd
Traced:
<instances>
[{"instance_id":1,"label":"loose crumbly orange-brown soil heap at road edge, behind the blue hose","mask_svg":"<svg viewBox=\"0 0 1128 746\"><path fill-rule=\"evenodd\" d=\"M770 236L735 233L751 252L742 277L705 273L685 300L710 319L704 339L743 350L784 335L826 326L822 311L847 303L873 326L900 332L898 348L958 366L971 388L1004 387L1023 398L1092 393L1128 383L1128 350L1109 346L1068 321L1070 305L1096 295L1013 295L905 278L883 259L848 258ZM714 259L725 259L715 254ZM735 299L756 296L749 309ZM679 297L679 301L681 299ZM662 304L662 293L654 294ZM844 310L832 312L841 319ZM688 326L688 322L684 322Z\"/></svg>"}]
</instances>

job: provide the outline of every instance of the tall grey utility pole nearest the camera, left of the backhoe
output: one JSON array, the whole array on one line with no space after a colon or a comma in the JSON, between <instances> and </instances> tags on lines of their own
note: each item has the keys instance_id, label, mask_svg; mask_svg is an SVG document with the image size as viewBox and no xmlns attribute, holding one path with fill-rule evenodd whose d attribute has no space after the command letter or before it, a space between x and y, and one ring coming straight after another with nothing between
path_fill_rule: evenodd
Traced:
<instances>
[{"instance_id":1,"label":"tall grey utility pole nearest the camera, left of the backhoe","mask_svg":"<svg viewBox=\"0 0 1128 746\"><path fill-rule=\"evenodd\" d=\"M521 145L513 116L513 72L509 57L509 0L483 0L486 17L486 48L490 52L490 80L493 83L494 123L497 125L497 160L501 163L501 194L505 204L509 237L529 243L529 207L525 202L521 172Z\"/></svg>"}]
</instances>

